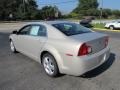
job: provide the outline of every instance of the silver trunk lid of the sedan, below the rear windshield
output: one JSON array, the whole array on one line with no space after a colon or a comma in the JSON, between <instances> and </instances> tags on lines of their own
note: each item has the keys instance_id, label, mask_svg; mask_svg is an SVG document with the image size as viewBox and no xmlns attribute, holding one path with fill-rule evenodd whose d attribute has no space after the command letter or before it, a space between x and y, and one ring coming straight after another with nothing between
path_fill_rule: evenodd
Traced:
<instances>
[{"instance_id":1,"label":"silver trunk lid of the sedan, below the rear windshield","mask_svg":"<svg viewBox=\"0 0 120 90\"><path fill-rule=\"evenodd\" d=\"M81 44L86 43L88 46L91 46L91 54L99 52L106 47L106 37L107 35L96 32L70 36L70 38L77 40Z\"/></svg>"}]
</instances>

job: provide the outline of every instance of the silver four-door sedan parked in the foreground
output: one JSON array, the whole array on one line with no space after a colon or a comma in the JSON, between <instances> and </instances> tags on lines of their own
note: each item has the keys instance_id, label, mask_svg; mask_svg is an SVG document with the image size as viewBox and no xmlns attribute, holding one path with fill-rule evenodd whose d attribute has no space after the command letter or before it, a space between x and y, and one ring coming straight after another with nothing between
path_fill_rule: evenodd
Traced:
<instances>
[{"instance_id":1,"label":"silver four-door sedan parked in the foreground","mask_svg":"<svg viewBox=\"0 0 120 90\"><path fill-rule=\"evenodd\" d=\"M80 76L109 58L108 36L69 21L31 22L9 37L11 51L40 62L51 77Z\"/></svg>"}]
</instances>

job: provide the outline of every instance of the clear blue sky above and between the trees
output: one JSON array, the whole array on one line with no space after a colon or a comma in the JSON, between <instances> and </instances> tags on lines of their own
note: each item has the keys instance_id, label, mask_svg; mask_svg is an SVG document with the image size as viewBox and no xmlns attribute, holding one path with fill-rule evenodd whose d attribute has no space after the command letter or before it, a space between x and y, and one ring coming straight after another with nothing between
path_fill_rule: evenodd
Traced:
<instances>
[{"instance_id":1,"label":"clear blue sky above and between the trees","mask_svg":"<svg viewBox=\"0 0 120 90\"><path fill-rule=\"evenodd\" d=\"M78 5L78 0L36 0L39 8L46 5L56 5L64 14L71 12ZM103 4L102 4L103 1ZM68 2L68 3L67 3ZM120 10L120 0L98 0L99 7Z\"/></svg>"}]
</instances>

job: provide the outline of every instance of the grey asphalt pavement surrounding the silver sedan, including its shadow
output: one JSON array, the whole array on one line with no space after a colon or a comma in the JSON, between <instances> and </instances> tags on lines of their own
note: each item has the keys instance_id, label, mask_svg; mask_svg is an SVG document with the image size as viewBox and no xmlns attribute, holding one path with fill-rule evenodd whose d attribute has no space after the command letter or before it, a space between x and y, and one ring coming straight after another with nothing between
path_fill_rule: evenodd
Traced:
<instances>
[{"instance_id":1,"label":"grey asphalt pavement surrounding the silver sedan, including its shadow","mask_svg":"<svg viewBox=\"0 0 120 90\"><path fill-rule=\"evenodd\" d=\"M13 54L9 49L9 32L1 30L0 90L120 90L120 33L107 34L111 48L107 62L82 77L50 78L39 63L21 53Z\"/></svg>"}]
</instances>

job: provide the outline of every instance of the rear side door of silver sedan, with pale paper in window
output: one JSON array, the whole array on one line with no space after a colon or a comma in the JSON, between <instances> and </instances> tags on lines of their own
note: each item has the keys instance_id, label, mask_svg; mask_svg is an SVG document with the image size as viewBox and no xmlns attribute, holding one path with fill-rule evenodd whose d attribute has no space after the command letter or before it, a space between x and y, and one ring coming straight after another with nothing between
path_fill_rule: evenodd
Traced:
<instances>
[{"instance_id":1,"label":"rear side door of silver sedan, with pale paper in window","mask_svg":"<svg viewBox=\"0 0 120 90\"><path fill-rule=\"evenodd\" d=\"M40 51L47 41L46 28L42 25L31 25L29 35L26 38L25 47L29 55L36 60L40 58Z\"/></svg>"}]
</instances>

